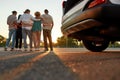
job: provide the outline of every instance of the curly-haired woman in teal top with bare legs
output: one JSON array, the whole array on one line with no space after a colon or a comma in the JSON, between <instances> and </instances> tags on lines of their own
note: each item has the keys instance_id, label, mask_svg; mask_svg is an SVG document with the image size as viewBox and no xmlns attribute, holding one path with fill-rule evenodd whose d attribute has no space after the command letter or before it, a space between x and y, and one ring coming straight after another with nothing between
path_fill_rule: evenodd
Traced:
<instances>
[{"instance_id":1,"label":"curly-haired woman in teal top with bare legs","mask_svg":"<svg viewBox=\"0 0 120 80\"><path fill-rule=\"evenodd\" d=\"M41 39L41 17L40 12L35 12L35 19L33 20L33 26L32 26L32 35L33 35L33 42L34 42L34 48L36 51L39 51L40 48L40 39Z\"/></svg>"}]
</instances>

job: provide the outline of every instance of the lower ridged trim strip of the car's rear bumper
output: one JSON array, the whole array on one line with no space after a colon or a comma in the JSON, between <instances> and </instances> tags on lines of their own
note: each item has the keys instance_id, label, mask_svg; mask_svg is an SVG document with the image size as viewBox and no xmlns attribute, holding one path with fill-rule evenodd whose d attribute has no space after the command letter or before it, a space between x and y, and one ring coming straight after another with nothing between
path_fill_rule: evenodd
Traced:
<instances>
[{"instance_id":1,"label":"lower ridged trim strip of the car's rear bumper","mask_svg":"<svg viewBox=\"0 0 120 80\"><path fill-rule=\"evenodd\" d=\"M88 28L92 28L95 25L96 26L101 26L102 23L100 23L100 22L98 22L94 19L87 19L87 20L78 22L74 25L71 25L71 26L65 28L63 30L63 34L67 36L67 35L72 34L74 32L78 32L78 31L82 31L82 30L85 30L85 29L88 29Z\"/></svg>"}]
</instances>

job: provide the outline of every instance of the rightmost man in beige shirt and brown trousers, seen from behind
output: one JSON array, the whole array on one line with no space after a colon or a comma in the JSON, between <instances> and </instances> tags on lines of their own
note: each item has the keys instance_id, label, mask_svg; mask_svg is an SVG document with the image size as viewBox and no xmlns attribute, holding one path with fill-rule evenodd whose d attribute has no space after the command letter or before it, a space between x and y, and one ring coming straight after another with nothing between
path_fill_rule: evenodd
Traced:
<instances>
[{"instance_id":1,"label":"rightmost man in beige shirt and brown trousers, seen from behind","mask_svg":"<svg viewBox=\"0 0 120 80\"><path fill-rule=\"evenodd\" d=\"M49 15L49 11L47 9L44 10L44 14L41 16L43 18L42 24L43 24L43 40L44 40L44 48L45 51L48 51L48 43L50 50L53 51L53 45L52 45L52 36L51 31L54 26L53 18L51 15Z\"/></svg>"}]
</instances>

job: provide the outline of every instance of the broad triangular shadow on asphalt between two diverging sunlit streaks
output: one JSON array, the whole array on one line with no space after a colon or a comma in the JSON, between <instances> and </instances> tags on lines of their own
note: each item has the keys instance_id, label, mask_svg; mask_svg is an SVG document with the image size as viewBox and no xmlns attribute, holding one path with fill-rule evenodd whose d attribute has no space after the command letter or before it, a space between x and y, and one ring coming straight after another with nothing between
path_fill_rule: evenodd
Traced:
<instances>
[{"instance_id":1,"label":"broad triangular shadow on asphalt between two diverging sunlit streaks","mask_svg":"<svg viewBox=\"0 0 120 80\"><path fill-rule=\"evenodd\" d=\"M32 68L15 80L80 80L54 52L34 62Z\"/></svg>"}]
</instances>

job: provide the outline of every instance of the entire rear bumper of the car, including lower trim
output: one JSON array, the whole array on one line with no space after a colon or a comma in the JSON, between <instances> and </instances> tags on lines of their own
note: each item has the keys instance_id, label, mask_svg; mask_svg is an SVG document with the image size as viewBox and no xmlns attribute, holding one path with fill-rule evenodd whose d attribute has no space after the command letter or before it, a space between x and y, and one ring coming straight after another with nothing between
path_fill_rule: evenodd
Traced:
<instances>
[{"instance_id":1,"label":"entire rear bumper of the car, including lower trim","mask_svg":"<svg viewBox=\"0 0 120 80\"><path fill-rule=\"evenodd\" d=\"M62 22L64 35L89 29L103 24L120 22L120 5L104 5L97 8L78 11Z\"/></svg>"}]
</instances>

